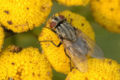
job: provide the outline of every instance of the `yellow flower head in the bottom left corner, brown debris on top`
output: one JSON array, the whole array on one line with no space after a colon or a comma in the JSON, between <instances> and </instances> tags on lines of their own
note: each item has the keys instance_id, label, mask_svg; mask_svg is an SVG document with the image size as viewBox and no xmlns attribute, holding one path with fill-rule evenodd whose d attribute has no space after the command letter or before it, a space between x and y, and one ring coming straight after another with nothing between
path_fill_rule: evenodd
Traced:
<instances>
[{"instance_id":1,"label":"yellow flower head in the bottom left corner, brown debris on top","mask_svg":"<svg viewBox=\"0 0 120 80\"><path fill-rule=\"evenodd\" d=\"M52 69L37 48L9 46L0 54L0 80L52 80Z\"/></svg>"}]
</instances>

